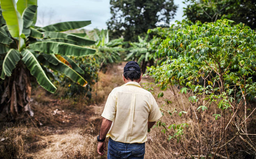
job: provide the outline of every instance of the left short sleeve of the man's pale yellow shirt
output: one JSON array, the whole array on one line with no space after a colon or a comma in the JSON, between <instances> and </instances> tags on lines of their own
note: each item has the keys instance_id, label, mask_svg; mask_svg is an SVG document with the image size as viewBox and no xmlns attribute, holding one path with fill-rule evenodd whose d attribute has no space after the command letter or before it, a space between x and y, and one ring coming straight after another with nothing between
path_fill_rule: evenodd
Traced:
<instances>
[{"instance_id":1,"label":"left short sleeve of the man's pale yellow shirt","mask_svg":"<svg viewBox=\"0 0 256 159\"><path fill-rule=\"evenodd\" d=\"M113 92L111 92L108 95L108 99L101 116L106 118L107 120L113 121L115 118L115 115L116 115L116 98L113 95Z\"/></svg>"}]
</instances>

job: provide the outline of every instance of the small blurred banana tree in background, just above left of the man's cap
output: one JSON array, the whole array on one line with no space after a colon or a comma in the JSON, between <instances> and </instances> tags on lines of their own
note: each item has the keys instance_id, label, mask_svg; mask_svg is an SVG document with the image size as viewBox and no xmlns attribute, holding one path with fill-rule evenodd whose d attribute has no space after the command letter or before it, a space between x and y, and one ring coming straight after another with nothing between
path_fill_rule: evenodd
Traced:
<instances>
[{"instance_id":1,"label":"small blurred banana tree in background, just above left of the man's cap","mask_svg":"<svg viewBox=\"0 0 256 159\"><path fill-rule=\"evenodd\" d=\"M106 34L101 30L100 35L94 33L96 40L97 52L95 54L96 61L99 63L100 68L106 67L109 63L115 63L120 60L120 52L124 51L120 45L123 45L123 38L113 39L109 41L108 30Z\"/></svg>"}]
</instances>

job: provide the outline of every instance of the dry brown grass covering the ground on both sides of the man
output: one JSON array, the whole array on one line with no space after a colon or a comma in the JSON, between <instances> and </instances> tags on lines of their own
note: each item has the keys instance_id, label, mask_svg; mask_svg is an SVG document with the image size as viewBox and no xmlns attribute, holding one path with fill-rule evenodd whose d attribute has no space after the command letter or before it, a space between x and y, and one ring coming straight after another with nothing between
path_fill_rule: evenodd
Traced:
<instances>
[{"instance_id":1,"label":"dry brown grass covering the ground on both sides of the man","mask_svg":"<svg viewBox=\"0 0 256 159\"><path fill-rule=\"evenodd\" d=\"M92 92L93 101L89 102L83 97L78 100L58 99L41 88L33 90L31 106L34 117L22 114L20 118L8 123L0 123L0 158L106 158L96 152L96 136L100 131L101 112L109 92L123 84L122 71L125 63L108 68L106 73L99 72L100 81L95 84ZM146 89L148 82L153 82L148 77L143 77L141 84ZM144 84L143 84L144 83ZM182 140L167 140L162 133L163 127L155 127L148 133L145 158L189 158L189 154L196 157L198 146L198 128L195 122L194 111L191 110L187 97L178 93L174 88L178 101L168 89L164 97L157 98L160 92L154 89L154 96L158 105L166 110L181 108L188 113L179 117L174 113L170 116L164 113L161 122L166 125L173 123L188 123ZM166 103L168 99L171 103ZM214 106L210 106L200 120L202 127L202 152L205 152L208 137L211 135L216 123L209 112L214 112ZM256 120L255 120L256 121ZM250 131L255 131L255 121L251 121ZM229 130L232 134L233 130ZM170 133L173 131L170 130ZM254 132L256 133L256 132ZM232 136L228 136L230 139ZM219 134L216 134L219 138ZM253 141L256 141L254 138ZM235 144L234 144L235 143ZM240 145L239 145L240 144ZM232 158L247 158L242 152L243 143L239 139L228 145L230 154L238 153ZM240 151L241 149L241 151ZM219 153L225 154L222 148Z\"/></svg>"}]
</instances>

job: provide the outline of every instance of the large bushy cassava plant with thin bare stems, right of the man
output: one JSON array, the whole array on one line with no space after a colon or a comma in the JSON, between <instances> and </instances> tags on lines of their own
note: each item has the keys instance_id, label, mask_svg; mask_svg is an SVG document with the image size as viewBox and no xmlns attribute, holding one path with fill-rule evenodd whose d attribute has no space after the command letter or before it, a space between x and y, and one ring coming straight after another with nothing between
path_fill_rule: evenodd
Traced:
<instances>
[{"instance_id":1,"label":"large bushy cassava plant with thin bare stems, right of the man","mask_svg":"<svg viewBox=\"0 0 256 159\"><path fill-rule=\"evenodd\" d=\"M157 51L168 60L148 68L161 90L171 90L179 102L174 91L178 87L179 93L187 97L190 105L185 107L180 101L179 109L185 114L185 124L189 116L195 120L193 141L197 142L197 154L190 147L185 152L188 156L232 158L234 139L245 145L243 151L255 155L255 138L251 136L255 135L252 119L256 107L250 103L256 101L256 32L242 23L232 25L233 22L224 19L177 27ZM164 112L172 115L171 111ZM205 114L212 119L204 118ZM177 133L173 124L177 125L170 123L168 127L164 123L164 129ZM184 135L183 131L180 135Z\"/></svg>"}]
</instances>

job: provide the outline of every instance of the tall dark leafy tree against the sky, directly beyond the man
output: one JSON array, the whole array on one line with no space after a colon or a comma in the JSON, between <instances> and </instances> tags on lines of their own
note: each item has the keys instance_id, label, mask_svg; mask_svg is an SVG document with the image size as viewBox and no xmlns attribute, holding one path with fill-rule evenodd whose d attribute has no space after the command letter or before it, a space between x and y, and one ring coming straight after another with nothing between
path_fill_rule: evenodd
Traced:
<instances>
[{"instance_id":1,"label":"tall dark leafy tree against the sky, directly beyond the man","mask_svg":"<svg viewBox=\"0 0 256 159\"><path fill-rule=\"evenodd\" d=\"M173 0L110 0L110 5L110 35L123 36L125 41L137 41L150 28L168 27L178 7Z\"/></svg>"}]
</instances>

